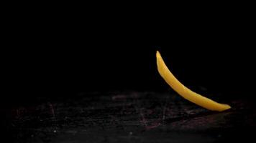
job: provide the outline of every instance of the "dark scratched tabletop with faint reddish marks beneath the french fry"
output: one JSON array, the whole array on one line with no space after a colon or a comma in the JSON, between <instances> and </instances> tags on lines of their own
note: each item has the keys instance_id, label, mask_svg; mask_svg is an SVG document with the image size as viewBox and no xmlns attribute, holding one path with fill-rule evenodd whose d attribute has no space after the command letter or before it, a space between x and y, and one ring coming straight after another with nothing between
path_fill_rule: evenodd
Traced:
<instances>
[{"instance_id":1,"label":"dark scratched tabletop with faint reddish marks beneath the french fry","mask_svg":"<svg viewBox=\"0 0 256 143\"><path fill-rule=\"evenodd\" d=\"M242 99L211 112L175 93L92 92L15 107L14 142L229 142L253 139L255 107Z\"/></svg>"}]
</instances>

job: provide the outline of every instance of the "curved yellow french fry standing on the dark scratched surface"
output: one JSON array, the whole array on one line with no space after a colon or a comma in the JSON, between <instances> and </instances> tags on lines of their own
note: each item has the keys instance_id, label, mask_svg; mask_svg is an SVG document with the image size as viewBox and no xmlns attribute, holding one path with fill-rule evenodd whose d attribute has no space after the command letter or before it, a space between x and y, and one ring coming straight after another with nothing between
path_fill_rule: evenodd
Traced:
<instances>
[{"instance_id":1,"label":"curved yellow french fry standing on the dark scratched surface","mask_svg":"<svg viewBox=\"0 0 256 143\"><path fill-rule=\"evenodd\" d=\"M214 102L211 99L208 99L201 96L200 94L197 94L196 92L191 91L191 89L188 89L183 84L181 84L165 65L165 62L163 61L159 51L157 51L157 69L161 77L165 79L165 82L167 82L170 87L175 90L175 92L178 92L181 97L187 99L188 101L193 102L194 104L198 104L199 106L206 109L219 112L231 108L228 104L219 104L217 102Z\"/></svg>"}]
</instances>

